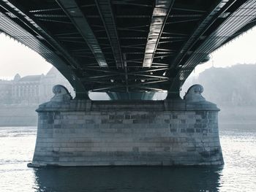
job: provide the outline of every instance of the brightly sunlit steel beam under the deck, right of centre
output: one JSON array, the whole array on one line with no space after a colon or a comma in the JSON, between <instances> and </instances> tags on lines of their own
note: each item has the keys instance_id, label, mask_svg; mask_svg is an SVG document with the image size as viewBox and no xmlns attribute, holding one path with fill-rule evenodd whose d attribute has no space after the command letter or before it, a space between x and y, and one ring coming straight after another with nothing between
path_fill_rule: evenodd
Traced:
<instances>
[{"instance_id":1,"label":"brightly sunlit steel beam under the deck, right of centre","mask_svg":"<svg viewBox=\"0 0 256 192\"><path fill-rule=\"evenodd\" d=\"M151 67L154 59L154 53L157 50L162 30L165 27L170 9L173 7L174 0L156 0L156 4L151 17L151 25L148 32L148 40L143 59L143 67Z\"/></svg>"}]
</instances>

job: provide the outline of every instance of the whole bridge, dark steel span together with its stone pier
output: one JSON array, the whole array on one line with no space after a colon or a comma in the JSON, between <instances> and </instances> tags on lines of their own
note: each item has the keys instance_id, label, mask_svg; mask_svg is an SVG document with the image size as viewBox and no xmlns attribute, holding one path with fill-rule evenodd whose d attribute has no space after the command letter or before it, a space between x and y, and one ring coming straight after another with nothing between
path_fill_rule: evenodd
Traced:
<instances>
[{"instance_id":1,"label":"whole bridge, dark steel span together with its stone pier","mask_svg":"<svg viewBox=\"0 0 256 192\"><path fill-rule=\"evenodd\" d=\"M256 25L256 0L0 0L0 18L1 32L76 93L56 85L39 105L29 166L223 164L219 108L201 85L184 99L179 91L210 53Z\"/></svg>"}]
</instances>

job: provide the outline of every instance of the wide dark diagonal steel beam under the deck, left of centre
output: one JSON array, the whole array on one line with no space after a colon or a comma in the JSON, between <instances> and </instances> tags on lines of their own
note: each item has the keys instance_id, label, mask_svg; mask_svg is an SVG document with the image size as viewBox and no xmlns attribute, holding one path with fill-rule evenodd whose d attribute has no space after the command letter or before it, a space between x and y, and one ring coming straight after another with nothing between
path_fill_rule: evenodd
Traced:
<instances>
[{"instance_id":1,"label":"wide dark diagonal steel beam under the deck, left of centre","mask_svg":"<svg viewBox=\"0 0 256 192\"><path fill-rule=\"evenodd\" d=\"M91 52L97 60L100 67L108 67L105 55L102 52L101 47L97 38L94 36L94 31L92 31L89 23L87 22L83 12L80 10L78 4L75 0L56 0L61 9L66 13L69 19L74 24L75 28L78 29L83 39L86 41Z\"/></svg>"}]
</instances>

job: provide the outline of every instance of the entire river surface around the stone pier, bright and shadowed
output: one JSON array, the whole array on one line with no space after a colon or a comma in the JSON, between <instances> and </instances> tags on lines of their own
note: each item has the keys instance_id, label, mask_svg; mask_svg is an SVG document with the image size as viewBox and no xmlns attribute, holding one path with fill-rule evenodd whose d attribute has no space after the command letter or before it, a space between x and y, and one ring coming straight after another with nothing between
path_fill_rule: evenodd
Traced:
<instances>
[{"instance_id":1,"label":"entire river surface around the stone pier, bright and shadowed","mask_svg":"<svg viewBox=\"0 0 256 192\"><path fill-rule=\"evenodd\" d=\"M0 192L256 191L256 124L221 124L225 165L32 169L36 127L0 127Z\"/></svg>"}]
</instances>

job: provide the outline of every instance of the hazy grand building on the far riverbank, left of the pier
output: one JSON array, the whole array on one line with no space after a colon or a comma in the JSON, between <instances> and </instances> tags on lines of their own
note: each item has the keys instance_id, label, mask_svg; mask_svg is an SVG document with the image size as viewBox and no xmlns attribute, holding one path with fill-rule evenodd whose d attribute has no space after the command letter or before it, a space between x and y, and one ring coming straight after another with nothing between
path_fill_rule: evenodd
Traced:
<instances>
[{"instance_id":1,"label":"hazy grand building on the far riverbank, left of the pier","mask_svg":"<svg viewBox=\"0 0 256 192\"><path fill-rule=\"evenodd\" d=\"M53 85L61 84L72 91L69 82L52 67L47 74L16 74L13 80L0 80L0 104L40 104L53 96Z\"/></svg>"}]
</instances>

